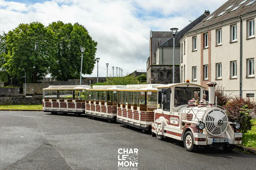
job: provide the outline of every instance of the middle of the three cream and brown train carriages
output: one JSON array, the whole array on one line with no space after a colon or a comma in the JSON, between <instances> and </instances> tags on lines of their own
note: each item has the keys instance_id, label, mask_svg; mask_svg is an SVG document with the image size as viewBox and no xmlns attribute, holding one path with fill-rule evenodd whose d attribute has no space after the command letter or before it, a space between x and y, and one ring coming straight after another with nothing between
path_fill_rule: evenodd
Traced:
<instances>
[{"instance_id":1,"label":"middle of the three cream and brown train carriages","mask_svg":"<svg viewBox=\"0 0 256 170\"><path fill-rule=\"evenodd\" d=\"M85 114L108 119L112 122L117 116L118 91L125 86L93 86L86 90Z\"/></svg>"}]
</instances>

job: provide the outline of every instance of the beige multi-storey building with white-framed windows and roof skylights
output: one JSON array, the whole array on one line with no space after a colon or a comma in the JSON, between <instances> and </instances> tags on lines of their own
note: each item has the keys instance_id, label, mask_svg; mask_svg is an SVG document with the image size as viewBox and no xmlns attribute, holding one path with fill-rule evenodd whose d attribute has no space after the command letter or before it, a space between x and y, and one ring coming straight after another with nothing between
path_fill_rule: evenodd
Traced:
<instances>
[{"instance_id":1,"label":"beige multi-storey building with white-framed windows and roof skylights","mask_svg":"<svg viewBox=\"0 0 256 170\"><path fill-rule=\"evenodd\" d=\"M217 82L226 94L254 98L256 3L229 0L187 32L181 43L181 82Z\"/></svg>"}]
</instances>

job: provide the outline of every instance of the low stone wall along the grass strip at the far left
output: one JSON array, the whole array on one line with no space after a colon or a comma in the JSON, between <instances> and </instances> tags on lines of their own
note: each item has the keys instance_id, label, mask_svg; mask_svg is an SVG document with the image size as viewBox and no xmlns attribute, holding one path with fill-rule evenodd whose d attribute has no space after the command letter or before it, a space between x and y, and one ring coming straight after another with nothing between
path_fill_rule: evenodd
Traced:
<instances>
[{"instance_id":1,"label":"low stone wall along the grass strip at the far left","mask_svg":"<svg viewBox=\"0 0 256 170\"><path fill-rule=\"evenodd\" d=\"M31 105L42 104L42 98L25 97L0 97L0 105Z\"/></svg>"}]
</instances>

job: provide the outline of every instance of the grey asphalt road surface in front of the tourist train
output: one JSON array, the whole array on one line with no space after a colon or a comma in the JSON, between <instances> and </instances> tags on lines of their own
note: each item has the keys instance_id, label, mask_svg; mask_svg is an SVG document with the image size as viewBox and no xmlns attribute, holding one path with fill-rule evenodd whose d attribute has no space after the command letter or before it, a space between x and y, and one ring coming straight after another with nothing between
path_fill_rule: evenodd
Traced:
<instances>
[{"instance_id":1,"label":"grey asphalt road surface in front of the tourist train","mask_svg":"<svg viewBox=\"0 0 256 170\"><path fill-rule=\"evenodd\" d=\"M190 153L118 123L87 116L0 111L0 169L118 169L118 149L138 149L138 169L256 169L237 151Z\"/></svg>"}]
</instances>

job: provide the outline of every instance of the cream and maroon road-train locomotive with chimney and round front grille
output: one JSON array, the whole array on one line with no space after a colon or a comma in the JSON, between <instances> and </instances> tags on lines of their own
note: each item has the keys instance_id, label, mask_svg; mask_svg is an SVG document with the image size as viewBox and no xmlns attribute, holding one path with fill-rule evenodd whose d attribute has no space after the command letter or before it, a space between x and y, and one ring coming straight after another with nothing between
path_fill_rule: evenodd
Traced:
<instances>
[{"instance_id":1,"label":"cream and maroon road-train locomotive with chimney and round front grille","mask_svg":"<svg viewBox=\"0 0 256 170\"><path fill-rule=\"evenodd\" d=\"M214 106L216 84L207 83L208 102L203 99L203 86L189 82L157 86L152 135L159 140L165 136L183 141L188 151L204 146L232 150L241 144L240 123L229 122L225 110Z\"/></svg>"}]
</instances>

